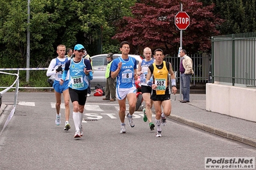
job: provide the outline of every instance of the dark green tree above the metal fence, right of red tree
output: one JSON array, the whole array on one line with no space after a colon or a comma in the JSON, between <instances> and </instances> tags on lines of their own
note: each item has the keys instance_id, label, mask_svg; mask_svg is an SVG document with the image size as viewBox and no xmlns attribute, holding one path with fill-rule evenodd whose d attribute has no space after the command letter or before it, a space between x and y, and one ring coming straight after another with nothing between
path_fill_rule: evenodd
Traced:
<instances>
[{"instance_id":1,"label":"dark green tree above the metal fence, right of red tree","mask_svg":"<svg viewBox=\"0 0 256 170\"><path fill-rule=\"evenodd\" d=\"M217 27L222 35L256 31L255 0L200 0L204 5L215 3L214 14L224 20Z\"/></svg>"}]
</instances>

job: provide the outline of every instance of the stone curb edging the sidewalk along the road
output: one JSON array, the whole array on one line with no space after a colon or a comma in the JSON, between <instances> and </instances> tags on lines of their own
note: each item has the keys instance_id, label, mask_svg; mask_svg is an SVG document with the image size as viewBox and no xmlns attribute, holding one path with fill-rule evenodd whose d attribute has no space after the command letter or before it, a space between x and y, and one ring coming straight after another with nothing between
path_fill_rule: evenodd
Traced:
<instances>
[{"instance_id":1,"label":"stone curb edging the sidewalk along the road","mask_svg":"<svg viewBox=\"0 0 256 170\"><path fill-rule=\"evenodd\" d=\"M203 123L198 123L196 121L187 120L187 119L177 116L175 114L171 114L170 116L168 116L168 118L171 118L171 120L175 120L180 123L184 123L191 127L199 128L201 130L205 130L206 132L210 132L212 134L219 135L221 137L225 137L227 139L237 141L239 143L248 144L248 145L256 148L256 139L252 139L251 137L246 137L244 135L239 135L239 134L235 134L233 132L228 132L226 130L211 127L209 125L205 125Z\"/></svg>"}]
</instances>

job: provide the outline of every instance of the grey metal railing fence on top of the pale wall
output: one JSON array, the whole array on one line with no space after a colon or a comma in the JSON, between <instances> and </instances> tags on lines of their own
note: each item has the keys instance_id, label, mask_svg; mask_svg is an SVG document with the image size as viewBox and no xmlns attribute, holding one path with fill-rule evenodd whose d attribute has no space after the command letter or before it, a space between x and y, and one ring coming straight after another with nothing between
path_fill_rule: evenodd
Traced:
<instances>
[{"instance_id":1,"label":"grey metal railing fence on top of the pale wall","mask_svg":"<svg viewBox=\"0 0 256 170\"><path fill-rule=\"evenodd\" d=\"M212 82L255 86L256 32L212 36Z\"/></svg>"}]
</instances>

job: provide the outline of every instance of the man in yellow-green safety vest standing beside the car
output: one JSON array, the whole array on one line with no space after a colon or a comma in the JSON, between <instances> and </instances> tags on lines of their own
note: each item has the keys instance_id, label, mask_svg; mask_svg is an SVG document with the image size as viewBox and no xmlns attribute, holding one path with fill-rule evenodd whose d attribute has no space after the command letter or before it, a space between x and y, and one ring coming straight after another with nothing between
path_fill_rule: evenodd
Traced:
<instances>
[{"instance_id":1,"label":"man in yellow-green safety vest standing beside the car","mask_svg":"<svg viewBox=\"0 0 256 170\"><path fill-rule=\"evenodd\" d=\"M113 79L111 77L111 73L110 73L110 65L112 64L113 61L113 54L112 53L108 53L107 55L107 68L106 68L106 73L105 73L105 77L107 79L106 81L106 97L103 98L103 100L109 100L110 102L114 102L115 101L115 79ZM111 94L111 99L110 99L110 94Z\"/></svg>"}]
</instances>

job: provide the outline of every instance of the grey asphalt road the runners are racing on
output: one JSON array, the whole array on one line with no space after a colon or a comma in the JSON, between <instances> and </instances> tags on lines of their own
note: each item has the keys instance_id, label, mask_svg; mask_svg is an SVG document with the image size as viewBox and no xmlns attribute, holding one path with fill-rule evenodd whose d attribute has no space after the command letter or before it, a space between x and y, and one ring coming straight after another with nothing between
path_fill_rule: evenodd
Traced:
<instances>
[{"instance_id":1,"label":"grey asphalt road the runners are racing on","mask_svg":"<svg viewBox=\"0 0 256 170\"><path fill-rule=\"evenodd\" d=\"M0 117L0 130L12 110L14 93ZM85 105L84 135L55 125L55 95L19 93L15 114L0 136L0 169L205 169L205 157L255 157L255 148L167 120L162 137L155 137L142 112L135 127L120 134L118 103L89 97ZM62 105L63 107L63 105ZM71 107L72 109L72 107Z\"/></svg>"}]
</instances>

